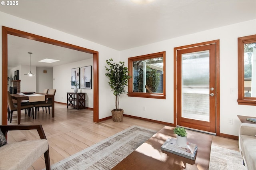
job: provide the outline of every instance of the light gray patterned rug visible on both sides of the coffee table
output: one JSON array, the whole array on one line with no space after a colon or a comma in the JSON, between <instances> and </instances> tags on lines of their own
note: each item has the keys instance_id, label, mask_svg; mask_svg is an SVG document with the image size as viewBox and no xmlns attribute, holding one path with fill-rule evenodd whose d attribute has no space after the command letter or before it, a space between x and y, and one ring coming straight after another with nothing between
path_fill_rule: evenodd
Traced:
<instances>
[{"instance_id":1,"label":"light gray patterned rug visible on both sides of the coffee table","mask_svg":"<svg viewBox=\"0 0 256 170\"><path fill-rule=\"evenodd\" d=\"M156 131L132 126L51 166L52 170L110 170ZM209 170L246 170L240 153L212 145Z\"/></svg>"}]
</instances>

